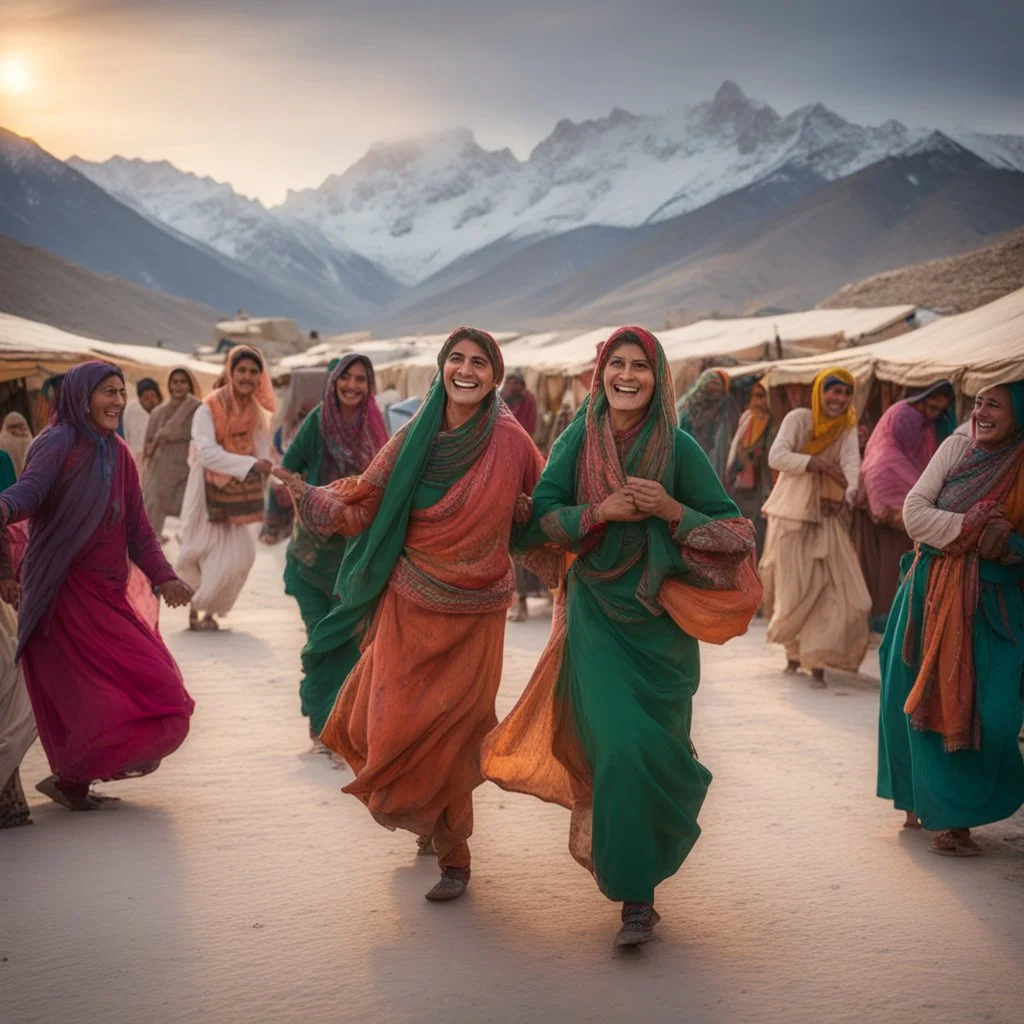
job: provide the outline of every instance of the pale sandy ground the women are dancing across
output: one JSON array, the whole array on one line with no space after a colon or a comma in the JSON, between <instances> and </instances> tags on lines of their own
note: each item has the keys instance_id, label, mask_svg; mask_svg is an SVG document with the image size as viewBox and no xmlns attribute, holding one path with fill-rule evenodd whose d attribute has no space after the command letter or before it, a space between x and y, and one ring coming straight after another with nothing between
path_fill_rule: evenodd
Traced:
<instances>
[{"instance_id":1,"label":"pale sandy ground the women are dancing across","mask_svg":"<svg viewBox=\"0 0 1024 1024\"><path fill-rule=\"evenodd\" d=\"M164 629L199 701L116 811L0 834L0 1021L995 1020L1024 1014L1024 818L977 861L935 857L874 799L870 687L810 690L763 634L706 652L705 835L658 893L660 941L616 954L616 909L567 814L493 786L469 896L431 905L406 834L303 753L298 614L262 551L231 631ZM500 713L546 624L510 627ZM45 773L35 748L27 782ZM33 798L35 798L33 794Z\"/></svg>"}]
</instances>

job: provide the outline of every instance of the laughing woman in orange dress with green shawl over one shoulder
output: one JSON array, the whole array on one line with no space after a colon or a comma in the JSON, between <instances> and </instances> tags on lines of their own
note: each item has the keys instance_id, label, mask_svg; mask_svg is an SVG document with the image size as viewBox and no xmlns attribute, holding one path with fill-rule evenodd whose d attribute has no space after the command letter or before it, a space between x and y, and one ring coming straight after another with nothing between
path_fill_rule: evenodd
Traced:
<instances>
[{"instance_id":1,"label":"laughing woman in orange dress with green shawl over one shoulder","mask_svg":"<svg viewBox=\"0 0 1024 1024\"><path fill-rule=\"evenodd\" d=\"M466 891L480 743L497 724L505 614L515 593L513 516L528 518L541 455L501 401L501 351L453 333L419 412L355 480L307 487L287 469L307 528L348 543L338 598L303 652L307 677L344 681L323 741L355 771L344 792L429 849L427 899ZM325 687L327 684L324 684Z\"/></svg>"}]
</instances>

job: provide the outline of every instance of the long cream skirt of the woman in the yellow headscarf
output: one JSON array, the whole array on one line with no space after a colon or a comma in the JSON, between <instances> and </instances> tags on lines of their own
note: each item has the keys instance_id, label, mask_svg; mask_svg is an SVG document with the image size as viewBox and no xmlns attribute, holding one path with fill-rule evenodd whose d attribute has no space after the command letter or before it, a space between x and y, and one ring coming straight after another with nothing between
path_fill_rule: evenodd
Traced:
<instances>
[{"instance_id":1,"label":"long cream skirt of the woman in the yellow headscarf","mask_svg":"<svg viewBox=\"0 0 1024 1024\"><path fill-rule=\"evenodd\" d=\"M761 579L770 643L783 644L805 669L860 668L871 598L838 517L814 523L769 516Z\"/></svg>"}]
</instances>

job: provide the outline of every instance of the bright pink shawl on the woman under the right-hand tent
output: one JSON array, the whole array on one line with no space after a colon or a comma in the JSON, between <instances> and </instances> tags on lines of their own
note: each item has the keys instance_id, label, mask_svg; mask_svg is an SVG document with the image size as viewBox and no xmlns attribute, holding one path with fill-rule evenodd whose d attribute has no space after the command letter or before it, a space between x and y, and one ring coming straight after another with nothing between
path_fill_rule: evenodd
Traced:
<instances>
[{"instance_id":1,"label":"bright pink shawl on the woman under the right-hand tent","mask_svg":"<svg viewBox=\"0 0 1024 1024\"><path fill-rule=\"evenodd\" d=\"M952 395L949 381L940 381L914 398L895 402L876 424L860 465L868 508L876 519L903 508L910 488L928 468L939 443L948 436L948 432L940 435L939 429L940 424L943 428L948 425L945 413L933 423L918 408L924 398L940 392Z\"/></svg>"}]
</instances>

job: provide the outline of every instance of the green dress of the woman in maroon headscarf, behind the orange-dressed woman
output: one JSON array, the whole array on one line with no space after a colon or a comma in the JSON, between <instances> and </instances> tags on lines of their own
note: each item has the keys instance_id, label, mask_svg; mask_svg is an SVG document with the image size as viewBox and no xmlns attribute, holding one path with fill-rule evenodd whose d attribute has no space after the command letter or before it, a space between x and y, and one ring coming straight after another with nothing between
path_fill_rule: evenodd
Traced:
<instances>
[{"instance_id":1,"label":"green dress of the woman in maroon headscarf, behind the orange-dressed woman","mask_svg":"<svg viewBox=\"0 0 1024 1024\"><path fill-rule=\"evenodd\" d=\"M296 473L304 473L306 481L317 486L324 483L324 432L321 429L322 406L317 406L303 421L282 465ZM306 637L312 636L321 620L331 610L332 593L345 554L346 541L340 535L321 541L300 521L288 545L285 558L285 593L299 605ZM339 685L332 678L304 675L299 683L302 714L310 728L319 733L338 696Z\"/></svg>"}]
</instances>

